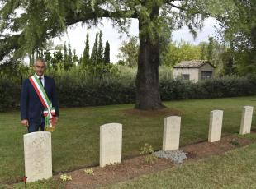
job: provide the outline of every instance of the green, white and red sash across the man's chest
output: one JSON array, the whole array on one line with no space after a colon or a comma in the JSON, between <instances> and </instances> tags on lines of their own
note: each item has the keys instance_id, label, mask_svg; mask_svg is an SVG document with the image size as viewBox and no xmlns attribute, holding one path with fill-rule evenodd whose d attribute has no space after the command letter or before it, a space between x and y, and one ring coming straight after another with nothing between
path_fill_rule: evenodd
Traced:
<instances>
[{"instance_id":1,"label":"green, white and red sash across the man's chest","mask_svg":"<svg viewBox=\"0 0 256 189\"><path fill-rule=\"evenodd\" d=\"M45 89L43 85L40 83L39 79L36 75L31 76L29 78L31 84L33 85L34 89L36 90L36 94L38 95L41 103L45 107L44 116L45 116L45 127L52 127L52 122L55 122L55 108L51 106L50 100L45 93Z\"/></svg>"}]
</instances>

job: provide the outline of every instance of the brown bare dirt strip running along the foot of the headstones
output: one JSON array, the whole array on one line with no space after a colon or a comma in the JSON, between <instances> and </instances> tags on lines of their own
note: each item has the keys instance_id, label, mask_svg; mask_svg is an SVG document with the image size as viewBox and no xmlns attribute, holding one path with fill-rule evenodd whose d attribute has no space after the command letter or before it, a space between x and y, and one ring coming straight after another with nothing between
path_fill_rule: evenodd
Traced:
<instances>
[{"instance_id":1,"label":"brown bare dirt strip running along the foot of the headstones","mask_svg":"<svg viewBox=\"0 0 256 189\"><path fill-rule=\"evenodd\" d=\"M225 136L220 141L209 143L203 141L193 145L186 145L180 150L187 152L187 160L202 159L214 154L223 154L226 151L249 145L252 141L239 138L237 136ZM187 161L186 160L186 161ZM170 159L157 159L154 164L146 164L143 156L123 160L121 164L107 166L105 168L94 167L93 175L84 173L84 168L68 175L72 176L72 181L67 182L66 188L95 188L107 186L111 183L122 182L143 174L158 172L166 168L173 167ZM55 178L59 178L56 175Z\"/></svg>"}]
</instances>

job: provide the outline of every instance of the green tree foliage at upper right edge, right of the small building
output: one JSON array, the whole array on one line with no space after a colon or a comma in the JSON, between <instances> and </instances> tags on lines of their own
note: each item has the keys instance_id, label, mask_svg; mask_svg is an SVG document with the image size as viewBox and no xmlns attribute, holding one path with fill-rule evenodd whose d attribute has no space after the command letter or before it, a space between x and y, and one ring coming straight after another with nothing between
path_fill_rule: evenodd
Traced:
<instances>
[{"instance_id":1,"label":"green tree foliage at upper right edge, right of the small building","mask_svg":"<svg viewBox=\"0 0 256 189\"><path fill-rule=\"evenodd\" d=\"M230 44L236 73L256 74L256 2L235 0L235 7L217 17L220 35Z\"/></svg>"}]
</instances>

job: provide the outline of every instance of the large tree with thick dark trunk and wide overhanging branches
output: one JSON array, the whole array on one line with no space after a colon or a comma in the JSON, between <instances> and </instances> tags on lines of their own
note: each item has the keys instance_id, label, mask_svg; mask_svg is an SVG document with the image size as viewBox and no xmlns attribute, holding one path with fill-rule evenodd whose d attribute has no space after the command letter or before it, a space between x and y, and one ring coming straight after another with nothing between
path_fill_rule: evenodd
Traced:
<instances>
[{"instance_id":1,"label":"large tree with thick dark trunk and wide overhanging branches","mask_svg":"<svg viewBox=\"0 0 256 189\"><path fill-rule=\"evenodd\" d=\"M45 40L63 33L78 22L97 24L109 18L120 31L139 21L139 58L135 108L162 108L159 93L159 48L161 34L182 25L196 35L207 16L232 8L233 0L0 0L2 8L0 60L10 54L19 58L40 48Z\"/></svg>"}]
</instances>

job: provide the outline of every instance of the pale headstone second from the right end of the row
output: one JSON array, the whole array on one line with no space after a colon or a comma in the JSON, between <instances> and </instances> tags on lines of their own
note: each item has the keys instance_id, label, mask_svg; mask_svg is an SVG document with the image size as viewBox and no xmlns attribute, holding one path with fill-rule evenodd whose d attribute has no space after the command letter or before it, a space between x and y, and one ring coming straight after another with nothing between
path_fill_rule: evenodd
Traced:
<instances>
[{"instance_id":1,"label":"pale headstone second from the right end of the row","mask_svg":"<svg viewBox=\"0 0 256 189\"><path fill-rule=\"evenodd\" d=\"M215 142L220 140L221 129L222 129L222 118L223 118L222 110L211 111L209 135L208 135L209 142Z\"/></svg>"}]
</instances>

